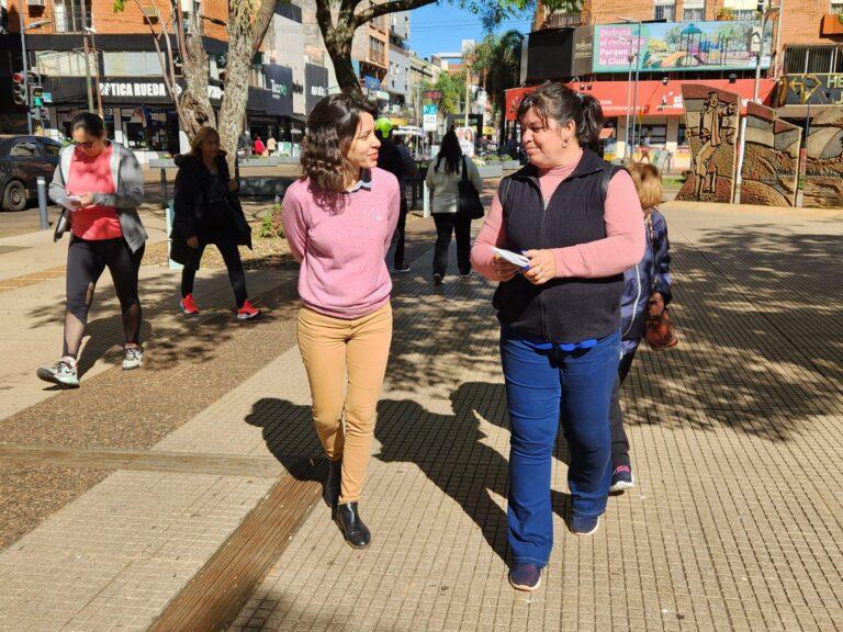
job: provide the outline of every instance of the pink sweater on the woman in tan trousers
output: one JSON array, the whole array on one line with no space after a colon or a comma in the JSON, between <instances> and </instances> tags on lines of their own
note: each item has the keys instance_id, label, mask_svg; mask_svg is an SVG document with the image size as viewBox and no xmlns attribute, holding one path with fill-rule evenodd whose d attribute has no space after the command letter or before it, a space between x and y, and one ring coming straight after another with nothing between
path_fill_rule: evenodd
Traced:
<instances>
[{"instance_id":1,"label":"pink sweater on the woman in tan trousers","mask_svg":"<svg viewBox=\"0 0 843 632\"><path fill-rule=\"evenodd\" d=\"M398 223L398 181L382 169L371 187L342 193L337 210L321 205L308 180L284 194L282 223L290 250L302 267L299 295L310 309L352 320L390 300L385 257Z\"/></svg>"}]
</instances>

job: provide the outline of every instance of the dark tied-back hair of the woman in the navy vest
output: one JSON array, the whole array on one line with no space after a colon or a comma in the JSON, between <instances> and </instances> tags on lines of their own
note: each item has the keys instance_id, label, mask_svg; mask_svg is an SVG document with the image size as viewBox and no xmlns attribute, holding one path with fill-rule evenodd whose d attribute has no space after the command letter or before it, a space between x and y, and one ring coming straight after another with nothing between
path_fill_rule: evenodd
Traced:
<instances>
[{"instance_id":1,"label":"dark tied-back hair of the woman in the navy vest","mask_svg":"<svg viewBox=\"0 0 843 632\"><path fill-rule=\"evenodd\" d=\"M535 110L542 122L548 119L564 125L573 121L576 126L576 139L584 147L596 147L603 127L603 108L591 94L574 92L559 81L548 81L524 98L518 106L520 121Z\"/></svg>"}]
</instances>

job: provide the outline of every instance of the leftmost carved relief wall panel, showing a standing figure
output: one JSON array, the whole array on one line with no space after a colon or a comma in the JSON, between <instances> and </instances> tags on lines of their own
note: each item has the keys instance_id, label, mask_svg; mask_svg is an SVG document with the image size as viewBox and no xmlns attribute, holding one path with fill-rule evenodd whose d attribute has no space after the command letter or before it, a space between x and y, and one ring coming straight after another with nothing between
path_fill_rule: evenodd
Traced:
<instances>
[{"instance_id":1,"label":"leftmost carved relief wall panel, showing a standing figure","mask_svg":"<svg viewBox=\"0 0 843 632\"><path fill-rule=\"evenodd\" d=\"M702 84L684 84L686 135L694 157L676 200L731 202L740 97Z\"/></svg>"}]
</instances>

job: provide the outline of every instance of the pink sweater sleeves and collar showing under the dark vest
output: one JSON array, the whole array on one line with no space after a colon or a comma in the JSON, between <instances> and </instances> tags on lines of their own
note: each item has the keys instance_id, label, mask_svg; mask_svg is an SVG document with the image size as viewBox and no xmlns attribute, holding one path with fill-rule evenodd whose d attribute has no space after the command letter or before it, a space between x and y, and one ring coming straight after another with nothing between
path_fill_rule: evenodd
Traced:
<instances>
[{"instance_id":1,"label":"pink sweater sleeves and collar showing under the dark vest","mask_svg":"<svg viewBox=\"0 0 843 632\"><path fill-rule=\"evenodd\" d=\"M582 158L582 153L580 154ZM580 158L571 165L540 173L542 196L547 200L562 180L576 168ZM641 232L641 203L632 178L620 171L609 182L606 194L604 222L606 237L588 244L554 248L557 276L598 279L623 272L644 256L644 234ZM492 247L506 248L506 232L502 224L503 206L497 194L486 216L477 240L471 249L471 264L490 281L496 281Z\"/></svg>"}]
</instances>

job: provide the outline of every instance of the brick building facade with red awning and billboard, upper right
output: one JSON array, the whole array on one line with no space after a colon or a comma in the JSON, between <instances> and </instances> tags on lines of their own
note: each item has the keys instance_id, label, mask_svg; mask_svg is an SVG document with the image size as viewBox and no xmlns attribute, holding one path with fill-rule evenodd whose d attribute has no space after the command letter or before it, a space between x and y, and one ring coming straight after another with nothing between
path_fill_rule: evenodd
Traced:
<instances>
[{"instance_id":1,"label":"brick building facade with red awning and billboard, upper right","mask_svg":"<svg viewBox=\"0 0 843 632\"><path fill-rule=\"evenodd\" d=\"M805 98L806 74L828 74L814 83L843 84L835 76L843 72L840 12L843 0L784 2L780 11L777 0L585 0L575 13L540 4L526 83L562 80L597 97L607 119L607 157L664 150L670 166L683 169L690 149L682 87L737 92L744 106L757 93L767 105L787 101L782 117L805 117L806 108L793 102L796 93ZM508 94L510 121L522 93ZM840 90L811 93L818 101L840 100Z\"/></svg>"}]
</instances>

